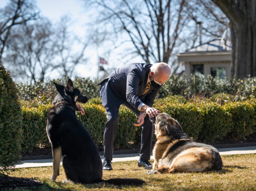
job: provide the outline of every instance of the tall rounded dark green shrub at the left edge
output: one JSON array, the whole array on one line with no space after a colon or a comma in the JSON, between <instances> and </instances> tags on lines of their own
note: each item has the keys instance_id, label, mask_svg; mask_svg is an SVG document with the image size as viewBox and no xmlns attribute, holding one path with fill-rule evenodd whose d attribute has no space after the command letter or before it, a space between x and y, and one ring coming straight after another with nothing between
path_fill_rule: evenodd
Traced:
<instances>
[{"instance_id":1,"label":"tall rounded dark green shrub at the left edge","mask_svg":"<svg viewBox=\"0 0 256 191\"><path fill-rule=\"evenodd\" d=\"M0 66L0 167L3 167L2 170L13 166L20 158L22 129L17 92L9 72Z\"/></svg>"}]
</instances>

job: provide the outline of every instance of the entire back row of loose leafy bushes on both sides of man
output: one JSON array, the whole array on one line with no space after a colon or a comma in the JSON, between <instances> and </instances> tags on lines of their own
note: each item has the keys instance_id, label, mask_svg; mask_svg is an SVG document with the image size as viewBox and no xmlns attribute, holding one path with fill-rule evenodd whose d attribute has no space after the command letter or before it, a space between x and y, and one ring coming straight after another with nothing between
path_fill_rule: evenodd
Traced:
<instances>
[{"instance_id":1,"label":"entire back row of loose leafy bushes on both sides of man","mask_svg":"<svg viewBox=\"0 0 256 191\"><path fill-rule=\"evenodd\" d=\"M66 81L66 78L54 80L54 82L61 84L65 84ZM38 82L33 85L17 84L21 105L25 107L38 107L40 104L50 103L57 94L52 82ZM91 103L100 104L101 100L98 98L99 86L96 86L97 83L99 83L99 79L93 81L90 78L75 78L73 80L74 86L79 88L82 94L95 98L91 100ZM180 95L187 100L191 98L196 100L198 100L197 98L211 98L210 101L214 101L214 99L217 99L216 96L223 96L223 99L214 101L223 104L226 100L225 96L228 96L227 94L232 95L232 101L244 101L255 98L256 77L248 77L241 80L235 77L219 79L218 77L213 78L211 75L207 75L205 78L196 75L190 75L189 77L186 75L172 75L160 88L158 98Z\"/></svg>"}]
</instances>

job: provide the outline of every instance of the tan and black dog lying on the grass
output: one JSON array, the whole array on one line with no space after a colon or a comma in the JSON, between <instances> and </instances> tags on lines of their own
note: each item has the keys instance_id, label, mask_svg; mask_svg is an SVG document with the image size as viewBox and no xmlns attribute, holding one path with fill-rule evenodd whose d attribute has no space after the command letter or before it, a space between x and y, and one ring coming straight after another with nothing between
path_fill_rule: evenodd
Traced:
<instances>
[{"instance_id":1,"label":"tan and black dog lying on the grass","mask_svg":"<svg viewBox=\"0 0 256 191\"><path fill-rule=\"evenodd\" d=\"M154 146L153 169L148 174L181 172L202 172L219 170L222 160L216 148L192 141L182 133L178 121L167 113L150 118L155 124L157 142Z\"/></svg>"}]
</instances>

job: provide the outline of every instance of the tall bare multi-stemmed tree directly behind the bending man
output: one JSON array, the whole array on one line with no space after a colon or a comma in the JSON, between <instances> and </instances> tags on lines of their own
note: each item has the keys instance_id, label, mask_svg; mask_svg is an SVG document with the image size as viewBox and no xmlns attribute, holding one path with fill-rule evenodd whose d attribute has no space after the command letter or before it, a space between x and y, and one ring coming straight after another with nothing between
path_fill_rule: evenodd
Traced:
<instances>
[{"instance_id":1,"label":"tall bare multi-stemmed tree directly behind the bending man","mask_svg":"<svg viewBox=\"0 0 256 191\"><path fill-rule=\"evenodd\" d=\"M125 54L140 55L146 63L166 62L174 65L178 37L187 22L186 0L87 0L97 6L95 23L117 35L123 32L133 45ZM177 65L176 65L177 67Z\"/></svg>"}]
</instances>

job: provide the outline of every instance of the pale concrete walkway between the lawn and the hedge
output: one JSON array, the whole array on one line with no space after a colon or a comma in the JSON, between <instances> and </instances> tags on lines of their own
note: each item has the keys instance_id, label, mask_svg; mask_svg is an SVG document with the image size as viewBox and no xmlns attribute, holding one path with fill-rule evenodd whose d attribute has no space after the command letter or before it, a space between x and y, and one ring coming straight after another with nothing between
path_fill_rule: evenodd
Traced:
<instances>
[{"instance_id":1,"label":"pale concrete walkway between the lawn and the hedge","mask_svg":"<svg viewBox=\"0 0 256 191\"><path fill-rule=\"evenodd\" d=\"M235 155L235 154L250 154L256 153L256 146L252 147L236 147L236 148L218 148L220 155ZM103 156L101 156L103 161ZM154 159L151 156L150 159ZM123 154L113 155L112 162L131 161L139 160L139 154ZM20 163L15 165L15 168L27 168L27 167L45 167L52 166L53 159L41 159L41 160L22 160ZM61 162L62 165L62 162Z\"/></svg>"}]
</instances>

